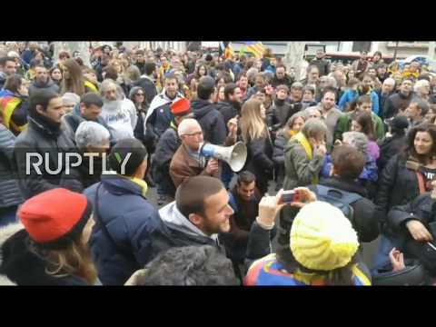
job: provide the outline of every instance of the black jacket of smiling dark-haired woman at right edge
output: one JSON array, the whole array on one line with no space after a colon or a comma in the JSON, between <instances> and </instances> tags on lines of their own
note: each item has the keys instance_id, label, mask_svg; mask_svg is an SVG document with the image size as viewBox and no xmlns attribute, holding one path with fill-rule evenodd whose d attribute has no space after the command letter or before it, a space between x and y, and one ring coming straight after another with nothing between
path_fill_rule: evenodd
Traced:
<instances>
[{"instance_id":1,"label":"black jacket of smiling dark-haired woman at right edge","mask_svg":"<svg viewBox=\"0 0 436 327\"><path fill-rule=\"evenodd\" d=\"M381 223L385 223L386 214L393 206L410 203L418 195L420 191L416 171L406 167L403 155L394 155L379 176L375 203Z\"/></svg>"}]
</instances>

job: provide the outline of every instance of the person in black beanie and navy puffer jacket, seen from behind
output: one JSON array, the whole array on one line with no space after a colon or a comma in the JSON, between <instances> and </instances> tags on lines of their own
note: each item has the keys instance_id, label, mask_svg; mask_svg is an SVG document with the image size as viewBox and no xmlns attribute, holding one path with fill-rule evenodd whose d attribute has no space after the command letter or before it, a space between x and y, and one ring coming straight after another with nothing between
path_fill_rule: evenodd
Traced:
<instances>
[{"instance_id":1,"label":"person in black beanie and navy puffer jacket, seen from behind","mask_svg":"<svg viewBox=\"0 0 436 327\"><path fill-rule=\"evenodd\" d=\"M90 247L100 281L122 285L149 261L149 232L159 213L145 198L144 144L134 138L120 140L108 162L116 174L102 174L102 182L84 190L94 207Z\"/></svg>"}]
</instances>

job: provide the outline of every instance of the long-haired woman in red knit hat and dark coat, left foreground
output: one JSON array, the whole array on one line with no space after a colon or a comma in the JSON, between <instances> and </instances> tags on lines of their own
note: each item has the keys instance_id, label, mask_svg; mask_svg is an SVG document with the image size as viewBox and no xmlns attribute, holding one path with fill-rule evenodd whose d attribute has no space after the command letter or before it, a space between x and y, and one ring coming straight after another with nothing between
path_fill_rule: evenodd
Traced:
<instances>
[{"instance_id":1,"label":"long-haired woman in red knit hat and dark coat, left foreground","mask_svg":"<svg viewBox=\"0 0 436 327\"><path fill-rule=\"evenodd\" d=\"M92 212L86 196L62 188L27 200L18 210L25 229L1 245L0 274L18 285L95 284Z\"/></svg>"}]
</instances>

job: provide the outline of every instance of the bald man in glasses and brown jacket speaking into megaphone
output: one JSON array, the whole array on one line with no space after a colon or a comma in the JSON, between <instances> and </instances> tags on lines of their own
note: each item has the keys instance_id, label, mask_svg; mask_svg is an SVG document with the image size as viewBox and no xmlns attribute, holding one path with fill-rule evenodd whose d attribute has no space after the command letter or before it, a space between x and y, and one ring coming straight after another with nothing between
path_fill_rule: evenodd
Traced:
<instances>
[{"instance_id":1,"label":"bald man in glasses and brown jacket speaking into megaphone","mask_svg":"<svg viewBox=\"0 0 436 327\"><path fill-rule=\"evenodd\" d=\"M177 188L184 180L197 175L220 178L221 169L216 159L206 161L200 155L203 130L193 118L183 119L177 128L182 145L177 149L170 164L170 175Z\"/></svg>"}]
</instances>

